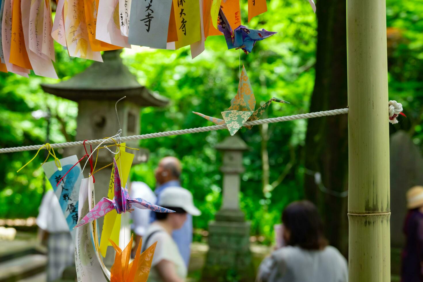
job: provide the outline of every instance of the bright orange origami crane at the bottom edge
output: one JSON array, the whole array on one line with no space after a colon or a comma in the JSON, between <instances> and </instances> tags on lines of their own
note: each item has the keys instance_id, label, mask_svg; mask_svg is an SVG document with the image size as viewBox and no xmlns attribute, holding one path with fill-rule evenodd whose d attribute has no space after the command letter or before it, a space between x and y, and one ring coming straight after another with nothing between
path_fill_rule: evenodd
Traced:
<instances>
[{"instance_id":1,"label":"bright orange origami crane at the bottom edge","mask_svg":"<svg viewBox=\"0 0 423 282\"><path fill-rule=\"evenodd\" d=\"M135 259L129 263L133 236L134 235L131 236L131 241L129 241L123 251L109 239L113 248L116 250L115 263L113 263L113 266L110 269L110 282L147 281L157 242L149 246L148 249L141 254L141 241L138 245Z\"/></svg>"}]
</instances>

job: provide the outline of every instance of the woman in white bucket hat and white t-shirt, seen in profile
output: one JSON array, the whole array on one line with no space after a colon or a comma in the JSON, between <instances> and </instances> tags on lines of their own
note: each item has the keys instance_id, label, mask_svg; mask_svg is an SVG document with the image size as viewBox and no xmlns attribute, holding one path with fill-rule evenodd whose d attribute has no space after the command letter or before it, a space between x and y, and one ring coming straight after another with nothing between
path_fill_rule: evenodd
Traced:
<instances>
[{"instance_id":1,"label":"woman in white bucket hat and white t-shirt, seen in profile","mask_svg":"<svg viewBox=\"0 0 423 282\"><path fill-rule=\"evenodd\" d=\"M157 204L175 212L158 213L143 237L142 251L157 241L148 281L183 282L187 277L187 266L172 232L184 225L187 214L199 216L201 211L195 207L191 192L181 187L166 188Z\"/></svg>"}]
</instances>

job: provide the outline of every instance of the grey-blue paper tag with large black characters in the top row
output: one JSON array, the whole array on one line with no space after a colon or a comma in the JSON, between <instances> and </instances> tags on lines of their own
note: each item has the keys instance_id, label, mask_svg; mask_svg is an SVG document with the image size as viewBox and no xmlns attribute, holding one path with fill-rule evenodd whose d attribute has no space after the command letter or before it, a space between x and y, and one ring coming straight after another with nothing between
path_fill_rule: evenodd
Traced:
<instances>
[{"instance_id":1,"label":"grey-blue paper tag with large black characters in the top row","mask_svg":"<svg viewBox=\"0 0 423 282\"><path fill-rule=\"evenodd\" d=\"M134 1L129 44L166 49L172 0Z\"/></svg>"}]
</instances>

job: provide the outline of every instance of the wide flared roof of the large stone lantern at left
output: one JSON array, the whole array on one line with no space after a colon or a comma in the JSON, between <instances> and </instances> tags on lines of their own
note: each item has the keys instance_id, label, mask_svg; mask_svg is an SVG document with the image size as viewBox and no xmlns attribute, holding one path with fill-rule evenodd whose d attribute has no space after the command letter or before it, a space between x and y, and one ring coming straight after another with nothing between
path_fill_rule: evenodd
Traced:
<instances>
[{"instance_id":1,"label":"wide flared roof of the large stone lantern at left","mask_svg":"<svg viewBox=\"0 0 423 282\"><path fill-rule=\"evenodd\" d=\"M42 84L41 88L50 94L71 101L113 100L126 96L139 107L164 107L168 99L151 93L140 85L128 68L122 63L122 50L107 51L103 54L104 63L93 62L91 66L74 77L57 84Z\"/></svg>"}]
</instances>

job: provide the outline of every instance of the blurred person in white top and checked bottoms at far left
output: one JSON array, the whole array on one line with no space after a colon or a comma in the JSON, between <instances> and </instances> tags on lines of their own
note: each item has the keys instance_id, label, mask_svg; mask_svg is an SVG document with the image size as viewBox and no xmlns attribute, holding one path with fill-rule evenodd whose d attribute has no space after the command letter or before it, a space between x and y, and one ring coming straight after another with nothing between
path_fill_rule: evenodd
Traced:
<instances>
[{"instance_id":1,"label":"blurred person in white top and checked bottoms at far left","mask_svg":"<svg viewBox=\"0 0 423 282\"><path fill-rule=\"evenodd\" d=\"M48 190L39 208L37 217L38 238L47 240L47 281L62 277L63 270L75 263L75 242L52 189Z\"/></svg>"}]
</instances>

